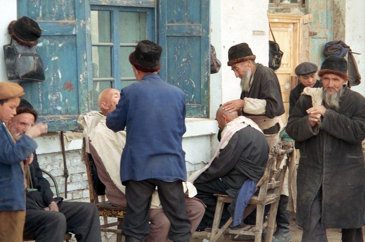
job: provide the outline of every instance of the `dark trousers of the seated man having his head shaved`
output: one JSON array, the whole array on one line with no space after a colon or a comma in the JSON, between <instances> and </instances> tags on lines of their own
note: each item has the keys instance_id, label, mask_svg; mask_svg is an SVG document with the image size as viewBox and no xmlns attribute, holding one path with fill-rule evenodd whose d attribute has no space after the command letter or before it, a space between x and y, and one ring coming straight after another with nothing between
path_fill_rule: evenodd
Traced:
<instances>
[{"instance_id":1,"label":"dark trousers of the seated man having his head shaved","mask_svg":"<svg viewBox=\"0 0 365 242\"><path fill-rule=\"evenodd\" d=\"M200 225L198 228L204 227L212 227L215 206L217 204L217 197L213 194L227 194L227 190L230 189L228 186L223 184L223 182L219 179L213 179L204 183L194 183L198 194L195 196L203 201L203 203L207 206L205 208L205 213L203 219L201 219ZM224 204L222 218L220 219L220 225L223 225L229 218L230 214L227 210L229 203Z\"/></svg>"}]
</instances>

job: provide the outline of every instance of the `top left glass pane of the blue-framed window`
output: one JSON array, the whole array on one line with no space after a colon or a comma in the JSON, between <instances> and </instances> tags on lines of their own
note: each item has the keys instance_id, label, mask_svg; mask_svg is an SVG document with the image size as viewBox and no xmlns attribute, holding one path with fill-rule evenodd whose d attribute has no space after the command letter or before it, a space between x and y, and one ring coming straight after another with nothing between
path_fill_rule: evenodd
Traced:
<instances>
[{"instance_id":1,"label":"top left glass pane of the blue-framed window","mask_svg":"<svg viewBox=\"0 0 365 242\"><path fill-rule=\"evenodd\" d=\"M91 11L91 42L111 43L110 11Z\"/></svg>"}]
</instances>

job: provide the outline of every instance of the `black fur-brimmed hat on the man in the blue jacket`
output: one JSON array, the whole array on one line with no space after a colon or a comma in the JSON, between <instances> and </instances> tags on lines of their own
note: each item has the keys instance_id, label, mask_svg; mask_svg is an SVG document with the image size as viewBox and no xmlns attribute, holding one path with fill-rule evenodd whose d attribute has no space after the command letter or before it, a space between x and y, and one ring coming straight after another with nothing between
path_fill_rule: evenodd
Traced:
<instances>
[{"instance_id":1,"label":"black fur-brimmed hat on the man in the blue jacket","mask_svg":"<svg viewBox=\"0 0 365 242\"><path fill-rule=\"evenodd\" d=\"M138 42L135 51L129 55L130 63L143 72L155 72L160 70L160 57L162 47L150 40L141 40Z\"/></svg>"}]
</instances>

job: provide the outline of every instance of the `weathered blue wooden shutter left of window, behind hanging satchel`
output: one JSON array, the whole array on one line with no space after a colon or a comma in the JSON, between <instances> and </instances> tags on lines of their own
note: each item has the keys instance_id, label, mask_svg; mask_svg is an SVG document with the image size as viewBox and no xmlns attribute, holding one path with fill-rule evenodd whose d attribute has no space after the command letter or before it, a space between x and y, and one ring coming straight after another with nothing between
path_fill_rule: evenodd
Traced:
<instances>
[{"instance_id":1,"label":"weathered blue wooden shutter left of window, behind hanging satchel","mask_svg":"<svg viewBox=\"0 0 365 242\"><path fill-rule=\"evenodd\" d=\"M38 22L42 36L36 46L46 80L22 84L39 120L49 131L73 130L78 114L89 110L85 1L18 0L18 17Z\"/></svg>"}]
</instances>

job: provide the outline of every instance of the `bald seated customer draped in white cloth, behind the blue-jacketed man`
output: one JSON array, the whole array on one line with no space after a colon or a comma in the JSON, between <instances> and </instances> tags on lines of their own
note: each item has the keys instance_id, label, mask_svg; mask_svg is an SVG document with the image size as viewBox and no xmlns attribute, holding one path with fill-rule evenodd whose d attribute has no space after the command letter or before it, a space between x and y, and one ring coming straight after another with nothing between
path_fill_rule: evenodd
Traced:
<instances>
[{"instance_id":1,"label":"bald seated customer draped in white cloth, behind the blue-jacketed man","mask_svg":"<svg viewBox=\"0 0 365 242\"><path fill-rule=\"evenodd\" d=\"M98 176L105 185L105 195L117 207L126 207L125 187L120 181L120 157L126 144L126 132L113 132L105 125L106 117L118 104L120 92L116 89L105 89L98 98L100 110L104 117L89 134L90 152L94 159ZM191 220L191 233L195 231L204 215L204 204L197 198L186 197L187 215ZM157 191L152 195L149 214L150 235L145 242L170 241L167 235L170 221L158 199Z\"/></svg>"}]
</instances>

